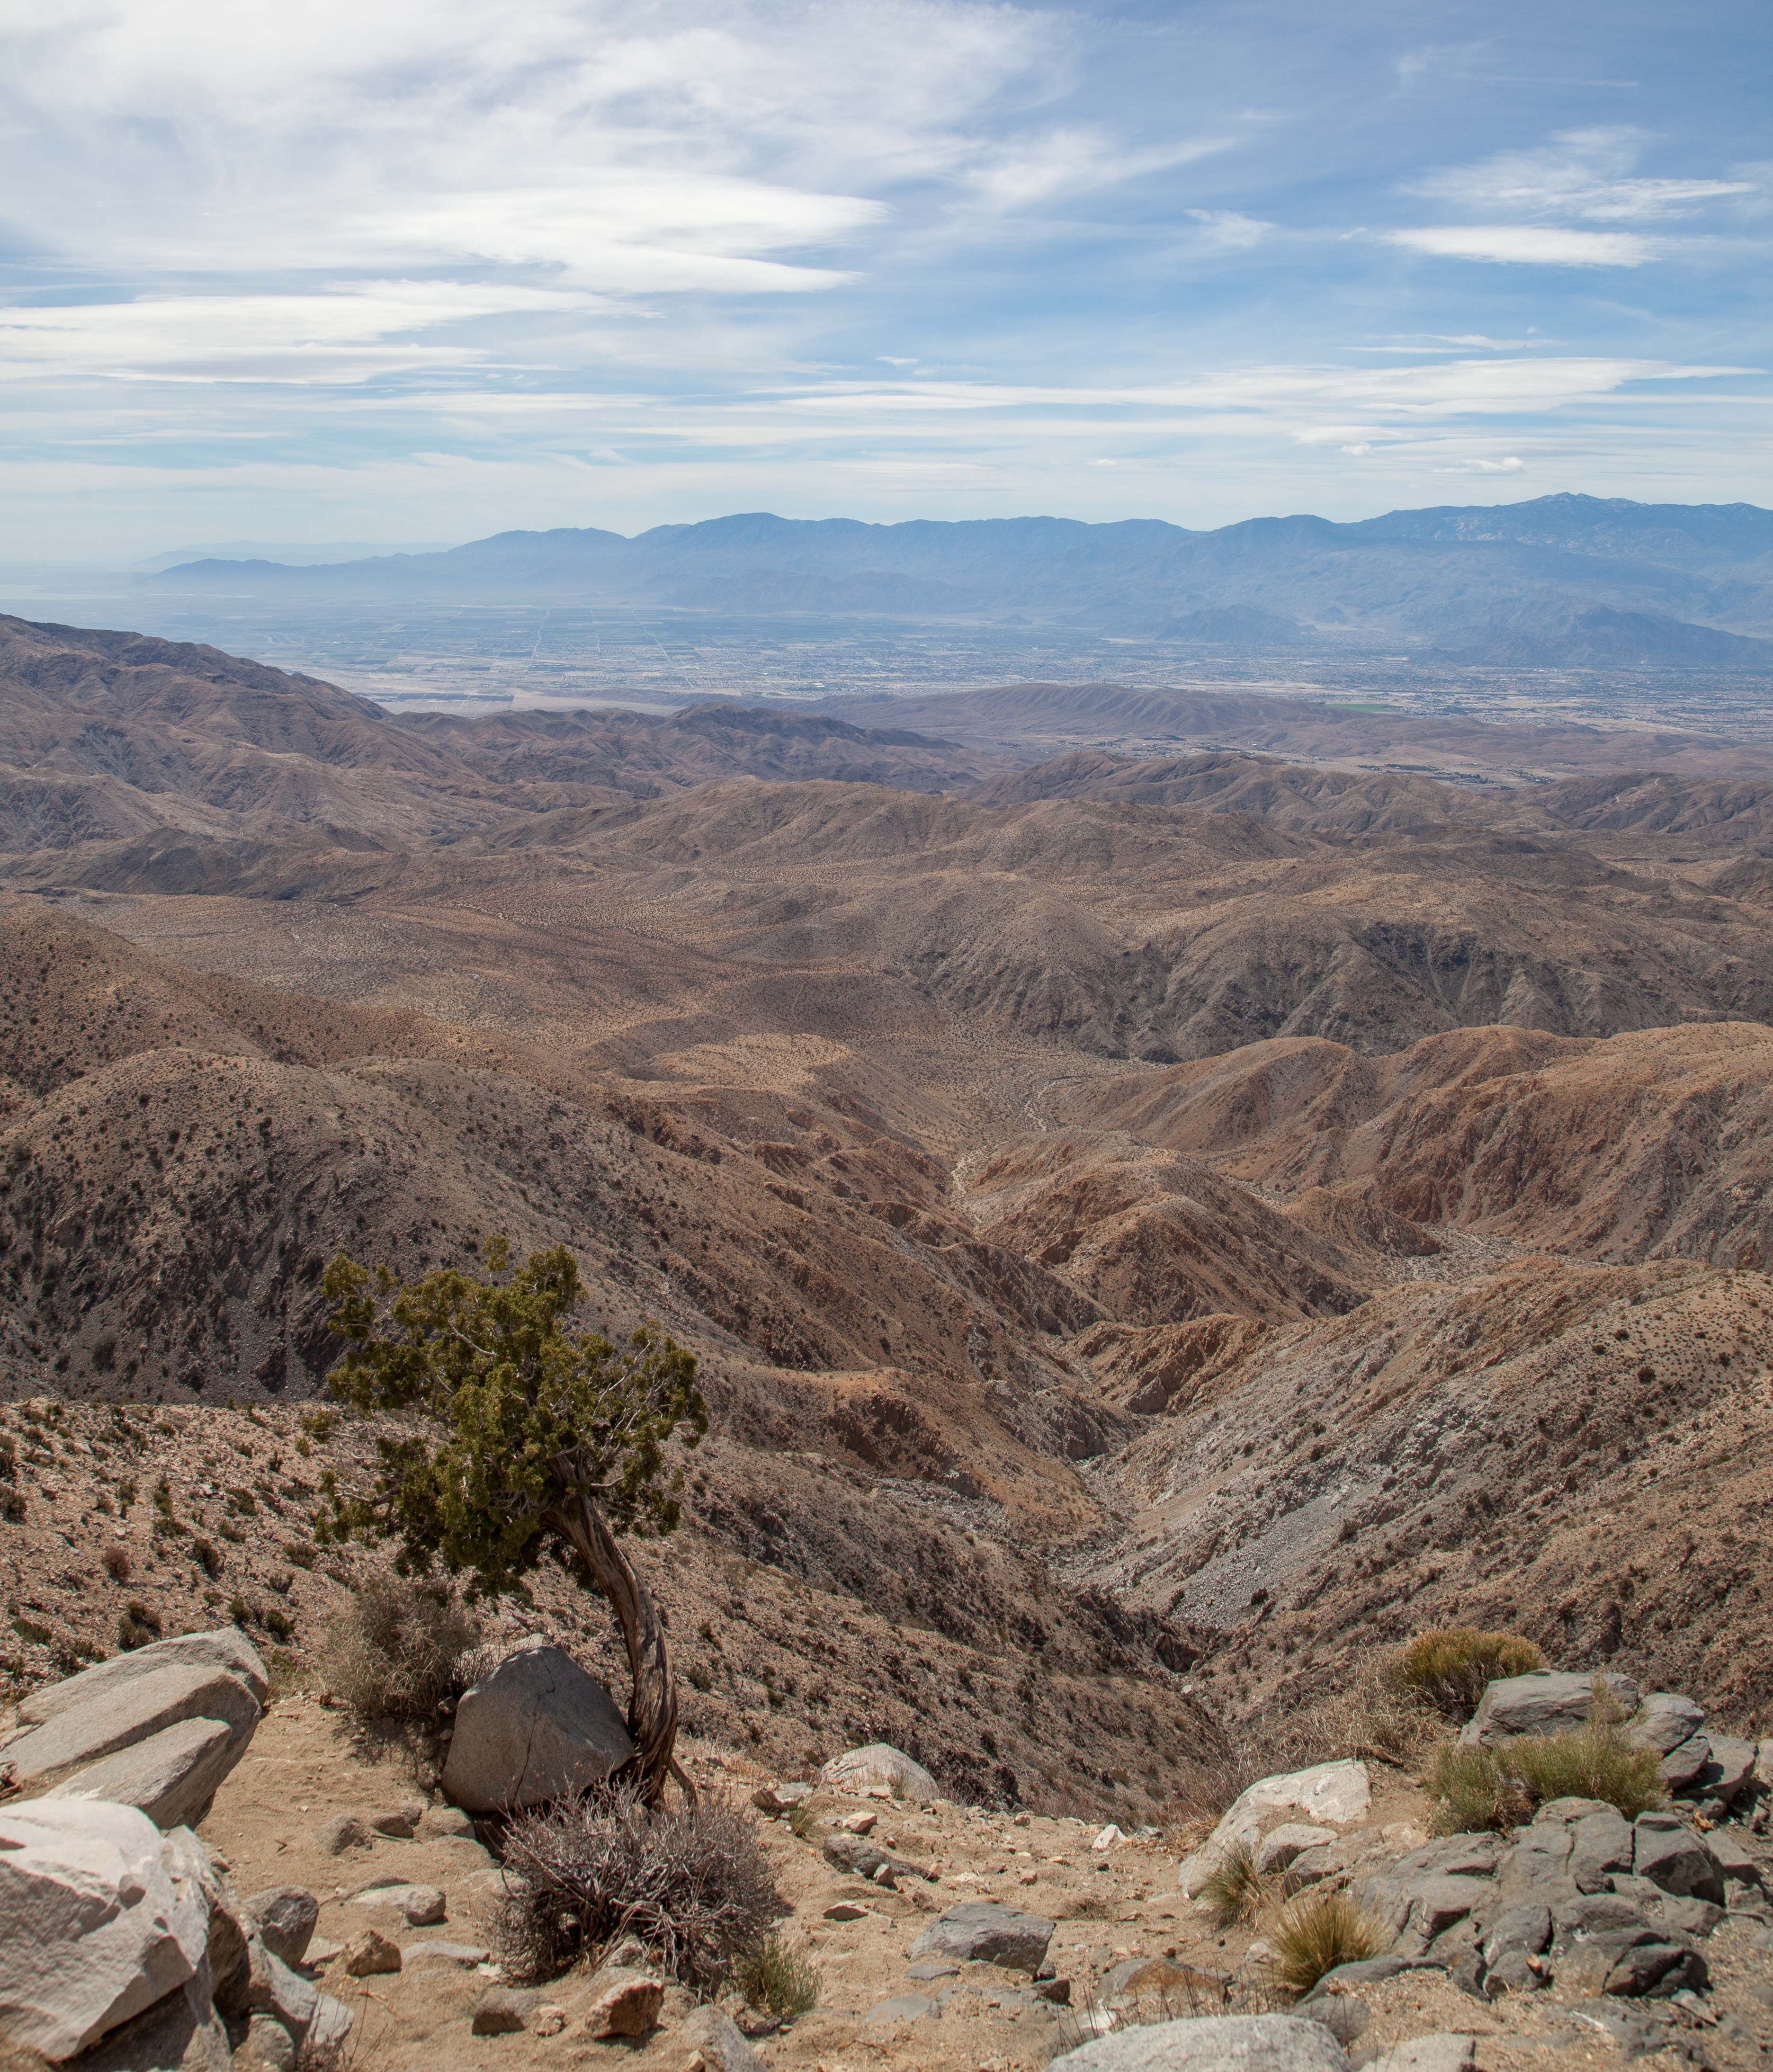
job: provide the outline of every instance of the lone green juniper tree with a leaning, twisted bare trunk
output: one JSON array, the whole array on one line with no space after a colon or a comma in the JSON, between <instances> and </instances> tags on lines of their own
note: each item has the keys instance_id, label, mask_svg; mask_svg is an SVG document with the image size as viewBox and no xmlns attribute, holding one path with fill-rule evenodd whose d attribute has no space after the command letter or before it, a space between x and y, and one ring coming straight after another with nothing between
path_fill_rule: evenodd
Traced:
<instances>
[{"instance_id":1,"label":"lone green juniper tree with a leaning, twisted bare trunk","mask_svg":"<svg viewBox=\"0 0 1773 2072\"><path fill-rule=\"evenodd\" d=\"M657 1805L677 1738L677 1687L665 1629L619 1535L677 1525L684 1471L667 1446L696 1446L708 1411L696 1359L657 1324L626 1347L572 1336L584 1289L565 1245L512 1268L493 1239L483 1276L437 1268L406 1287L340 1254L325 1274L329 1328L346 1341L333 1394L391 1413L377 1436L371 1498L321 1477L315 1539L398 1542L396 1566L441 1564L476 1595L514 1589L543 1558L609 1600L628 1645L632 1774Z\"/></svg>"}]
</instances>

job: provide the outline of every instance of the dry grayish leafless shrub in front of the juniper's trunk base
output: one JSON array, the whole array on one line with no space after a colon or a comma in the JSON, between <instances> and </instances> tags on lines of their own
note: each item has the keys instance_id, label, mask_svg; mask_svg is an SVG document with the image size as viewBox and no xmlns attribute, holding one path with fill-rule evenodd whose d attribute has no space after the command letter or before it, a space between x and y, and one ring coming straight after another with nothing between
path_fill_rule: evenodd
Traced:
<instances>
[{"instance_id":1,"label":"dry grayish leafless shrub in front of the juniper's trunk base","mask_svg":"<svg viewBox=\"0 0 1773 2072\"><path fill-rule=\"evenodd\" d=\"M553 1979L582 1950L638 1935L686 1985L708 1987L783 1910L756 1821L731 1801L646 1809L634 1786L559 1798L505 1830L520 1883L497 1917L518 1979Z\"/></svg>"}]
</instances>

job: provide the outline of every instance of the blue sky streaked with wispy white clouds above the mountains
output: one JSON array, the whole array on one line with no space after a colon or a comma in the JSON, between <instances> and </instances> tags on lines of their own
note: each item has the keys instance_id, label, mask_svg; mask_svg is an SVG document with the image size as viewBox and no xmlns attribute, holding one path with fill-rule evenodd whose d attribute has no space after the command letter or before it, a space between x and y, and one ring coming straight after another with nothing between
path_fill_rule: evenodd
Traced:
<instances>
[{"instance_id":1,"label":"blue sky streaked with wispy white clouds above the mountains","mask_svg":"<svg viewBox=\"0 0 1773 2072\"><path fill-rule=\"evenodd\" d=\"M0 29L12 559L1773 501L1765 0Z\"/></svg>"}]
</instances>

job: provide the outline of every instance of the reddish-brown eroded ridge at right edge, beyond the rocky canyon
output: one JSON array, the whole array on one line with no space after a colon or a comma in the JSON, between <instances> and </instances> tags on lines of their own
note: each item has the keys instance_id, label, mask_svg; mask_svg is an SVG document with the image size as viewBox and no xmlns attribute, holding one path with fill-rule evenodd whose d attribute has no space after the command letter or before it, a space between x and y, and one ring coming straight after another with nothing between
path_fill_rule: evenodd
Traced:
<instances>
[{"instance_id":1,"label":"reddish-brown eroded ridge at right edge, beyond the rocky canyon","mask_svg":"<svg viewBox=\"0 0 1773 2072\"><path fill-rule=\"evenodd\" d=\"M1098 1082L1067 1113L1266 1189L1336 1189L1599 1260L1773 1264L1773 1032L1315 1040Z\"/></svg>"}]
</instances>

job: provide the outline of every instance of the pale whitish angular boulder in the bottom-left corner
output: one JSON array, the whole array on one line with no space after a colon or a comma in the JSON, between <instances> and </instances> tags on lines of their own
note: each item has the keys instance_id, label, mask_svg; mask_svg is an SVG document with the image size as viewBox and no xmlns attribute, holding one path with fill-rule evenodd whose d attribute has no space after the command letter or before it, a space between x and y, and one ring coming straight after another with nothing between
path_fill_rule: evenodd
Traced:
<instances>
[{"instance_id":1,"label":"pale whitish angular boulder in the bottom-left corner","mask_svg":"<svg viewBox=\"0 0 1773 2072\"><path fill-rule=\"evenodd\" d=\"M213 1871L197 1838L162 1834L135 1807L0 1807L6 2041L62 2060L193 1981L207 2006L207 1883ZM188 2008L172 2012L201 2026Z\"/></svg>"}]
</instances>

